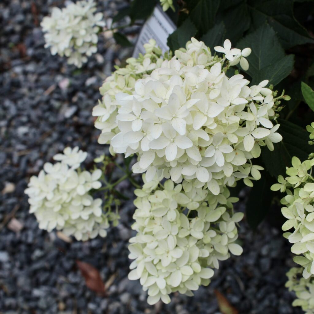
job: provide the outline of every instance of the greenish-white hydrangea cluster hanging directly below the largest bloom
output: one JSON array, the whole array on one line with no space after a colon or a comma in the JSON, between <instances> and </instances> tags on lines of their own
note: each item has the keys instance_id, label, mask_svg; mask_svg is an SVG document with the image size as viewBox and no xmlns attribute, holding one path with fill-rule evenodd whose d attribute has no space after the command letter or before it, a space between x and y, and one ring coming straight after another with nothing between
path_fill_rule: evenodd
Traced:
<instances>
[{"instance_id":1,"label":"greenish-white hydrangea cluster hanging directly below the largest bloom","mask_svg":"<svg viewBox=\"0 0 314 314\"><path fill-rule=\"evenodd\" d=\"M159 179L146 182L135 190L137 209L132 228L137 235L130 239L129 258L134 259L129 279L140 279L148 290L148 303L160 299L170 302L171 292L193 295L199 285L208 285L219 268L219 260L230 253L240 255L236 244L236 223L243 214L233 213L227 188L218 197L208 198L202 188L183 186L167 180L156 189Z\"/></svg>"}]
</instances>

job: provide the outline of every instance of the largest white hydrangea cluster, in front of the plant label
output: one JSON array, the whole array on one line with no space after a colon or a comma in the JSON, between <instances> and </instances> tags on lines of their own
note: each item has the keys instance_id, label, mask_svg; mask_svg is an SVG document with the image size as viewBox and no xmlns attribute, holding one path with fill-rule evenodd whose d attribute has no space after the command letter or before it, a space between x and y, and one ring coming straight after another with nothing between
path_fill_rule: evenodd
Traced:
<instances>
[{"instance_id":1,"label":"largest white hydrangea cluster, in front of the plant label","mask_svg":"<svg viewBox=\"0 0 314 314\"><path fill-rule=\"evenodd\" d=\"M148 181L162 174L214 195L242 178L252 186L263 168L251 159L260 155L260 146L273 150L282 137L276 133L279 125L270 121L275 99L265 87L268 81L248 87L243 75L226 76L224 62L239 63L250 52L230 47L228 40L224 48L216 47L225 53L219 58L192 38L170 60L144 58L146 73L129 76L129 87L123 77L108 80L113 88L106 87L93 112L102 130L99 142L110 143L114 153L137 154L133 172L146 171ZM138 73L138 61L129 62ZM129 73L130 68L118 71Z\"/></svg>"}]
</instances>

